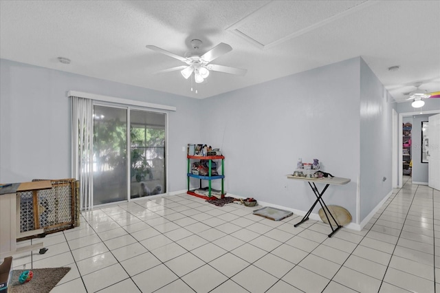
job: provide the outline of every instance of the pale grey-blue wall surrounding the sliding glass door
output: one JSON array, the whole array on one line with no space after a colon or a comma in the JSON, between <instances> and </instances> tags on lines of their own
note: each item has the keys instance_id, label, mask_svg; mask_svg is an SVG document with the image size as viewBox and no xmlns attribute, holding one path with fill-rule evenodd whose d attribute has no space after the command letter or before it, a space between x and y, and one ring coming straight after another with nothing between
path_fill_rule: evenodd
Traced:
<instances>
[{"instance_id":1,"label":"pale grey-blue wall surrounding the sliding glass door","mask_svg":"<svg viewBox=\"0 0 440 293\"><path fill-rule=\"evenodd\" d=\"M0 182L71 177L72 109L67 91L76 90L177 107L168 113L168 188L186 188L182 146L200 140L199 100L4 59L0 62Z\"/></svg>"}]
</instances>

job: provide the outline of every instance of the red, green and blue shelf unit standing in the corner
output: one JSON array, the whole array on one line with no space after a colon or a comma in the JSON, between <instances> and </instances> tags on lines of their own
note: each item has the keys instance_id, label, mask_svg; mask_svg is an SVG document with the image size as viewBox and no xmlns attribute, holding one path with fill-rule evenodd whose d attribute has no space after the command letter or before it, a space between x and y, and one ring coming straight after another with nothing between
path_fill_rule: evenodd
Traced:
<instances>
[{"instance_id":1,"label":"red, green and blue shelf unit standing in the corner","mask_svg":"<svg viewBox=\"0 0 440 293\"><path fill-rule=\"evenodd\" d=\"M189 195L194 195L197 197L201 197L203 199L212 199L212 197L225 197L224 193L224 165L223 160L225 157L223 155L187 155L188 160L188 172L186 173L187 182L188 182L188 191ZM217 171L217 162L221 160L221 174ZM190 178L199 179L200 188L190 190ZM208 181L208 186L202 188L202 180ZM221 191L216 191L212 188L211 181L212 180L221 180Z\"/></svg>"}]
</instances>

